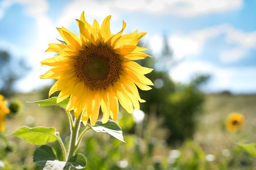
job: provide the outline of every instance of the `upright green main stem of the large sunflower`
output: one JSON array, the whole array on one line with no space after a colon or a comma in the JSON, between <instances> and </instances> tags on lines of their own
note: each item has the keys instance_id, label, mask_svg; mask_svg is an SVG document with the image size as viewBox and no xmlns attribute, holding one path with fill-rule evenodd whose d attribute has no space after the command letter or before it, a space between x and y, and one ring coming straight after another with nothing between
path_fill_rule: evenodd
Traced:
<instances>
[{"instance_id":1,"label":"upright green main stem of the large sunflower","mask_svg":"<svg viewBox=\"0 0 256 170\"><path fill-rule=\"evenodd\" d=\"M74 124L72 121L72 117L70 119L70 132L71 132L71 137L70 137L70 147L69 147L69 151L68 151L68 157L67 160L70 159L75 152L75 148L76 148L76 141L77 141L77 137L78 137L78 132L79 132L79 128L80 128L80 122L81 122L81 117L82 117L81 113L78 117L78 119L74 119ZM70 115L70 114L69 114Z\"/></svg>"}]
</instances>

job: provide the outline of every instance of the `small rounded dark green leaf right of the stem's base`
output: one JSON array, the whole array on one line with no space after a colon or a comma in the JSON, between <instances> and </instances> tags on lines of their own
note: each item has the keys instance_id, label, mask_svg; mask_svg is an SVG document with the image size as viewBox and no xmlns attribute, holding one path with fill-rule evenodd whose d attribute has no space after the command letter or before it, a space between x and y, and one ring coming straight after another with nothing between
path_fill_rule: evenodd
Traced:
<instances>
[{"instance_id":1,"label":"small rounded dark green leaf right of the stem's base","mask_svg":"<svg viewBox=\"0 0 256 170\"><path fill-rule=\"evenodd\" d=\"M85 156L81 153L72 156L69 160L67 160L66 166L71 165L76 169L82 169L86 166Z\"/></svg>"}]
</instances>

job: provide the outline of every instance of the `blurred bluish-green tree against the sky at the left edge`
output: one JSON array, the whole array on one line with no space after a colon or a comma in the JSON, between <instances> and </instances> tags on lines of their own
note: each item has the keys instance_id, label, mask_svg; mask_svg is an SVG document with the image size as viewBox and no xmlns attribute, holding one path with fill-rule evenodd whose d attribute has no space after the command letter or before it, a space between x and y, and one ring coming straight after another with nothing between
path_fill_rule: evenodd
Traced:
<instances>
[{"instance_id":1,"label":"blurred bluish-green tree against the sky at the left edge","mask_svg":"<svg viewBox=\"0 0 256 170\"><path fill-rule=\"evenodd\" d=\"M24 59L12 58L7 51L0 51L0 94L9 97L15 91L14 84L29 71Z\"/></svg>"}]
</instances>

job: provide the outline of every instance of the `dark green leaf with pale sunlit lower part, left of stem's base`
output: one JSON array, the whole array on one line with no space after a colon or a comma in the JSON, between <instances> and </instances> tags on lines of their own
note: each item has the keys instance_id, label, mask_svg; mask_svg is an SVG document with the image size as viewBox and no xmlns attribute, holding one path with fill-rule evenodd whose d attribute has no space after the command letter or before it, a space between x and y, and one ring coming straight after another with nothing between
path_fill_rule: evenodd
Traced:
<instances>
[{"instance_id":1,"label":"dark green leaf with pale sunlit lower part, left of stem's base","mask_svg":"<svg viewBox=\"0 0 256 170\"><path fill-rule=\"evenodd\" d=\"M66 166L66 162L59 161L56 151L47 145L36 148L33 154L33 161L43 170L63 170Z\"/></svg>"}]
</instances>

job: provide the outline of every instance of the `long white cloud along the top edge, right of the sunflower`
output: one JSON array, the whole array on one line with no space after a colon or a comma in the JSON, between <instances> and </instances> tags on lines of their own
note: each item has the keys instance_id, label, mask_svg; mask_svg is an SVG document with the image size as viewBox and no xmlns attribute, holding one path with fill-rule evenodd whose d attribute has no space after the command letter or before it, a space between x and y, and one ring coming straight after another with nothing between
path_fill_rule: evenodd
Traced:
<instances>
[{"instance_id":1,"label":"long white cloud along the top edge, right of the sunflower","mask_svg":"<svg viewBox=\"0 0 256 170\"><path fill-rule=\"evenodd\" d=\"M238 9L242 0L115 0L114 6L126 11L193 17Z\"/></svg>"}]
</instances>

